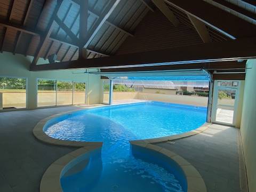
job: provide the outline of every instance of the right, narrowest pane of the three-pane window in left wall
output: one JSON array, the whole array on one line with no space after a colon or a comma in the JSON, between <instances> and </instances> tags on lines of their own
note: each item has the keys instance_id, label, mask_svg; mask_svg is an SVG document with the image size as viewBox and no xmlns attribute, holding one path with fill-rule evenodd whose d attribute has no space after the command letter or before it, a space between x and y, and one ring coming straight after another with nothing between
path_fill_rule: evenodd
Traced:
<instances>
[{"instance_id":1,"label":"right, narrowest pane of the three-pane window in left wall","mask_svg":"<svg viewBox=\"0 0 256 192\"><path fill-rule=\"evenodd\" d=\"M73 104L86 103L85 83L74 82Z\"/></svg>"}]
</instances>

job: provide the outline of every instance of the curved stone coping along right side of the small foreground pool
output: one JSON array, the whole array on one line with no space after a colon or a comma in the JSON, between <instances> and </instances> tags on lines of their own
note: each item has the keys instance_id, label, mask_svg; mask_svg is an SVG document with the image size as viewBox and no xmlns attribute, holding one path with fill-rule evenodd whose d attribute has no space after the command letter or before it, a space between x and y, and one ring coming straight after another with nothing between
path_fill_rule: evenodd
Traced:
<instances>
[{"instance_id":1,"label":"curved stone coping along right side of the small foreground pool","mask_svg":"<svg viewBox=\"0 0 256 192\"><path fill-rule=\"evenodd\" d=\"M131 141L130 143L133 146L139 146L142 148L153 150L157 153L166 156L167 158L170 158L172 161L177 163L180 166L183 173L185 174L187 180L187 192L207 192L206 185L201 174L185 158L179 156L178 154L175 154L174 152L168 149L143 141Z\"/></svg>"}]
</instances>

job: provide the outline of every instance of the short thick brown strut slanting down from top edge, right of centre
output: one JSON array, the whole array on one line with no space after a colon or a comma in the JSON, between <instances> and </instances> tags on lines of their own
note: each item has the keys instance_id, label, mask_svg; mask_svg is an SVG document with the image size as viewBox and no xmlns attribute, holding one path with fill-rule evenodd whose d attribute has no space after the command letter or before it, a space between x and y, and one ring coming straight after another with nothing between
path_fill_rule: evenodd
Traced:
<instances>
[{"instance_id":1,"label":"short thick brown strut slanting down from top edge, right of centre","mask_svg":"<svg viewBox=\"0 0 256 192\"><path fill-rule=\"evenodd\" d=\"M164 0L152 0L152 2L158 7L158 9L165 15L165 17L171 21L171 23L177 27L179 25L179 20L173 14L173 12L166 5Z\"/></svg>"}]
</instances>

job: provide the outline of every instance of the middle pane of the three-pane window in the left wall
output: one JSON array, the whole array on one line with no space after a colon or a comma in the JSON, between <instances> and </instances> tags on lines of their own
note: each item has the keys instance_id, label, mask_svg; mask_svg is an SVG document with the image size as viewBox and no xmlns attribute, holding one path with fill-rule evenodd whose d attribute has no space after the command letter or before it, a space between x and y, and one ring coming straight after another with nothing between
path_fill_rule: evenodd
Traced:
<instances>
[{"instance_id":1,"label":"middle pane of the three-pane window in the left wall","mask_svg":"<svg viewBox=\"0 0 256 192\"><path fill-rule=\"evenodd\" d=\"M57 81L57 106L72 105L73 82Z\"/></svg>"}]
</instances>

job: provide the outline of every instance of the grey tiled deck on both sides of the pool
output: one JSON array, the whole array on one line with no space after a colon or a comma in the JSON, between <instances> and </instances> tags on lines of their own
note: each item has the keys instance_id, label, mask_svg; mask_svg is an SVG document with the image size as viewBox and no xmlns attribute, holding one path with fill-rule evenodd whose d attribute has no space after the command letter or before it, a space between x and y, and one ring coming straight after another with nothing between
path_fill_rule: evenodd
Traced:
<instances>
[{"instance_id":1,"label":"grey tiled deck on both sides of the pool","mask_svg":"<svg viewBox=\"0 0 256 192\"><path fill-rule=\"evenodd\" d=\"M41 119L77 109L60 107L0 113L0 191L39 191L42 175L56 159L77 149L38 141L33 128ZM184 157L201 173L207 191L241 191L237 132L211 125L192 137L156 145Z\"/></svg>"}]
</instances>

